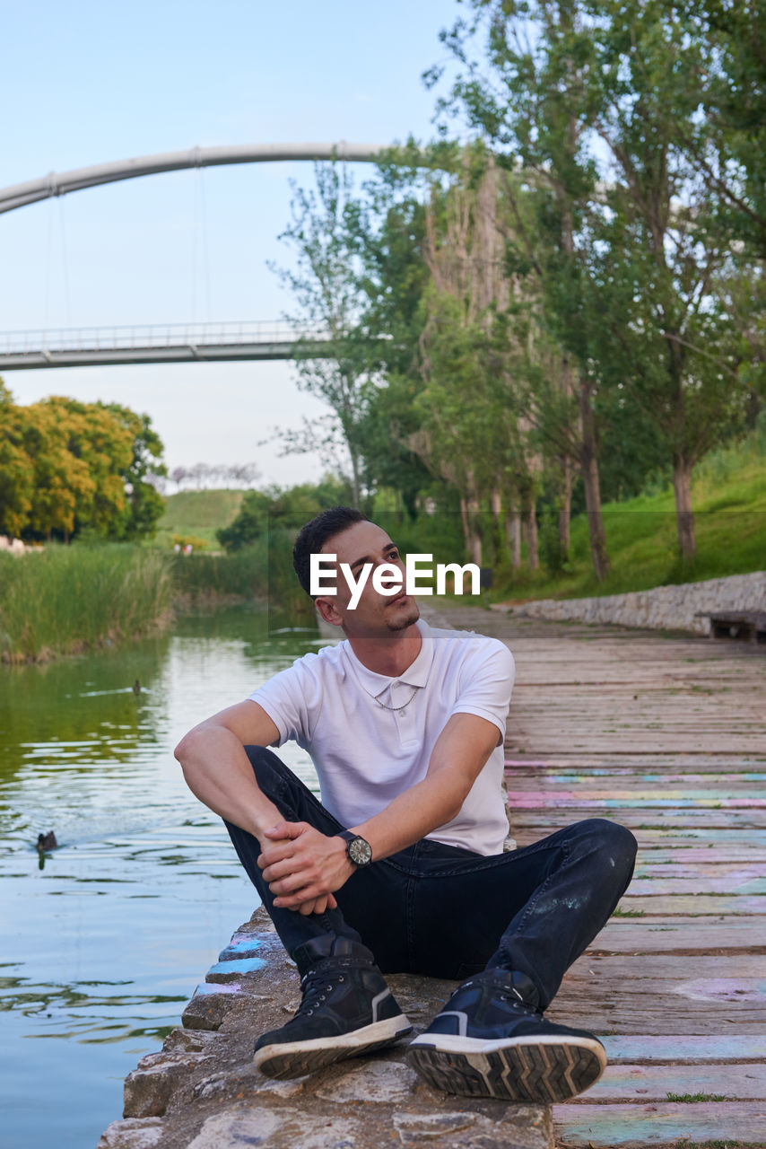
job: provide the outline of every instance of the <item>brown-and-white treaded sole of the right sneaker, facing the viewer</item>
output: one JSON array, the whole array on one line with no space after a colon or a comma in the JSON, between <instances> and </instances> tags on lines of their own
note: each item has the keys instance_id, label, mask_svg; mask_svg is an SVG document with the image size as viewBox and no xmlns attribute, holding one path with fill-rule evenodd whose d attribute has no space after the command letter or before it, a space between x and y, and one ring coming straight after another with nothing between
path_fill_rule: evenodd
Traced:
<instances>
[{"instance_id":1,"label":"brown-and-white treaded sole of the right sneaker, facing the viewer","mask_svg":"<svg viewBox=\"0 0 766 1149\"><path fill-rule=\"evenodd\" d=\"M477 1038L428 1034L407 1054L428 1085L466 1097L552 1104L589 1089L606 1066L596 1041L560 1038Z\"/></svg>"}]
</instances>

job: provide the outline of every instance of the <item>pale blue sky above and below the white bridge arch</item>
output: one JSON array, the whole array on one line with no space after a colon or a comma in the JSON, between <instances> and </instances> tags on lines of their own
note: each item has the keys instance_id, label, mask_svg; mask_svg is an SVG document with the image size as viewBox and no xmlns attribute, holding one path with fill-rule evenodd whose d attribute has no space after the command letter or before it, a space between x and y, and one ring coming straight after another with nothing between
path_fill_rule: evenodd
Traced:
<instances>
[{"instance_id":1,"label":"pale blue sky above and below the white bridge arch","mask_svg":"<svg viewBox=\"0 0 766 1149\"><path fill-rule=\"evenodd\" d=\"M459 11L457 0L0 0L0 187L195 145L426 139L434 97L420 74L446 59L439 31ZM266 260L289 259L277 236L291 177L309 184L311 164L171 172L0 215L0 332L279 318L291 301ZM5 381L22 403L64 394L147 411L169 468L255 461L264 483L288 485L319 466L280 458L272 431L324 410L293 375L200 363Z\"/></svg>"}]
</instances>

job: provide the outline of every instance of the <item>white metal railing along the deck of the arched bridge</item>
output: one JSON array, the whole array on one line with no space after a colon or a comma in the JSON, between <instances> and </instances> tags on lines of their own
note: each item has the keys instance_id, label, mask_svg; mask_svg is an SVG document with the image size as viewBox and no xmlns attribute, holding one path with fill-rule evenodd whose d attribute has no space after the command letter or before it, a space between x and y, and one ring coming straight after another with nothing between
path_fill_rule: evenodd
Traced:
<instances>
[{"instance_id":1,"label":"white metal railing along the deck of the arched bridge","mask_svg":"<svg viewBox=\"0 0 766 1149\"><path fill-rule=\"evenodd\" d=\"M237 344L294 344L326 340L327 332L283 321L243 319L222 323L122 324L110 327L48 327L0 332L0 354L40 350L133 350L152 347L216 347Z\"/></svg>"}]
</instances>

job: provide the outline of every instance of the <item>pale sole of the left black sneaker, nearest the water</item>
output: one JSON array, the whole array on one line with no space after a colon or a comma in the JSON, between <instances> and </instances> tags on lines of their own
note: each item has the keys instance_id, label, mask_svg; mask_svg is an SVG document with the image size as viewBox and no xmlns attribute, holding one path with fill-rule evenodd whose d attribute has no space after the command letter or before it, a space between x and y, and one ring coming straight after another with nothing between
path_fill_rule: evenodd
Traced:
<instances>
[{"instance_id":1,"label":"pale sole of the left black sneaker, nearest the water","mask_svg":"<svg viewBox=\"0 0 766 1149\"><path fill-rule=\"evenodd\" d=\"M309 1041L264 1046L256 1051L253 1063L264 1077L279 1079L303 1077L347 1057L358 1057L376 1049L385 1049L386 1046L392 1046L411 1032L412 1026L402 1013L385 1021L365 1025L351 1033L342 1033L336 1038L311 1038Z\"/></svg>"}]
</instances>

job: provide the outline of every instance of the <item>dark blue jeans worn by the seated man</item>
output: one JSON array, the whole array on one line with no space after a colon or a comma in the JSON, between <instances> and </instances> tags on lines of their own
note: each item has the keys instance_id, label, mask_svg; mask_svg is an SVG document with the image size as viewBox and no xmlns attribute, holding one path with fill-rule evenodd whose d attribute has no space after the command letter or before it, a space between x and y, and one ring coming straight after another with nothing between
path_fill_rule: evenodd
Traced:
<instances>
[{"instance_id":1,"label":"dark blue jeans worn by the seated man","mask_svg":"<svg viewBox=\"0 0 766 1149\"><path fill-rule=\"evenodd\" d=\"M346 828L274 754L245 749L286 820L328 835ZM614 910L636 853L633 834L603 818L492 857L423 839L351 874L335 893L336 910L304 916L274 908L257 840L226 828L289 954L332 933L362 940L384 973L461 980L488 966L519 970L537 986L543 1009Z\"/></svg>"}]
</instances>

